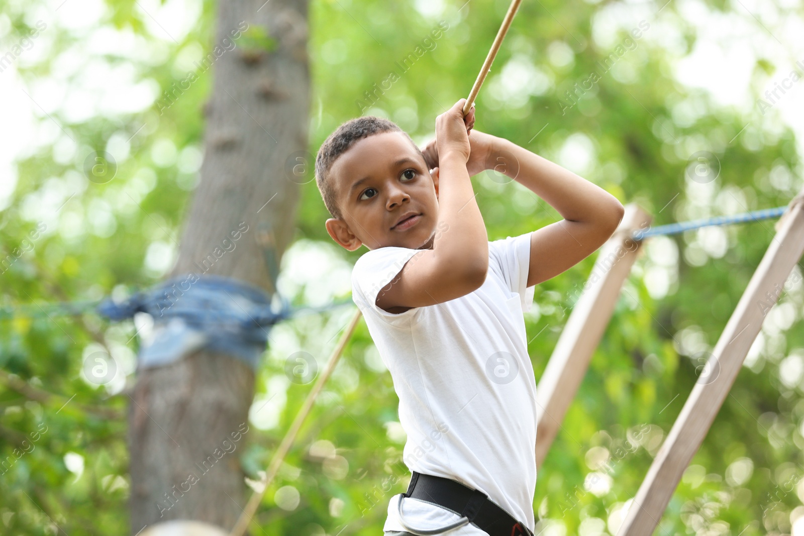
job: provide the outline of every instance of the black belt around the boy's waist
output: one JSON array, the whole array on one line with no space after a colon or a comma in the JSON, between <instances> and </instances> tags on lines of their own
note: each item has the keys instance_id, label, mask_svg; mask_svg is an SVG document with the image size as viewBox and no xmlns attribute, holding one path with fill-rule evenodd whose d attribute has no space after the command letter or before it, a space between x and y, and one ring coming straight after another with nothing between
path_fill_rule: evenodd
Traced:
<instances>
[{"instance_id":1,"label":"black belt around the boy's waist","mask_svg":"<svg viewBox=\"0 0 804 536\"><path fill-rule=\"evenodd\" d=\"M524 523L518 522L505 509L490 501L486 493L479 489L468 488L449 478L413 471L404 497L412 497L451 510L467 518L468 522L486 531L490 536L533 536ZM401 502L402 497L400 497L400 509ZM427 532L422 531L422 534Z\"/></svg>"}]
</instances>

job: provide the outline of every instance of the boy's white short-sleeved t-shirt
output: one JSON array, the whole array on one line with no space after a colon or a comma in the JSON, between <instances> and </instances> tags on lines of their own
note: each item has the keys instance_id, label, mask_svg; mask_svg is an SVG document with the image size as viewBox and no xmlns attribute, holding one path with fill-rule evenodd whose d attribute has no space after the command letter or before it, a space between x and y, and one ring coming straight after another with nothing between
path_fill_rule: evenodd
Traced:
<instances>
[{"instance_id":1,"label":"boy's white short-sleeved t-shirt","mask_svg":"<svg viewBox=\"0 0 804 536\"><path fill-rule=\"evenodd\" d=\"M352 272L352 297L391 372L411 471L480 489L534 530L536 383L523 311L531 235L489 242L489 269L480 288L454 300L388 313L375 300L420 250L387 247L365 253ZM416 260L412 260L416 262ZM406 530L392 497L384 530ZM459 516L411 497L404 519L428 529ZM486 534L474 525L453 536Z\"/></svg>"}]
</instances>

